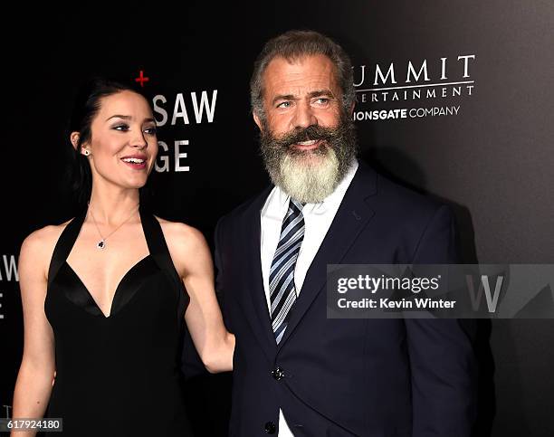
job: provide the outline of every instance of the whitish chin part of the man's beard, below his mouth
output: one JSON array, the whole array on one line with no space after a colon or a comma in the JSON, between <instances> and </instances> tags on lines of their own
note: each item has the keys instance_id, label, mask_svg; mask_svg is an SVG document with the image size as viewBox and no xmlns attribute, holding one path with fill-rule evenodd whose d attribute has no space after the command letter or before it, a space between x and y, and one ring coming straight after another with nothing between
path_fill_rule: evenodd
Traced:
<instances>
[{"instance_id":1,"label":"whitish chin part of the man's beard, below his mouth","mask_svg":"<svg viewBox=\"0 0 554 437\"><path fill-rule=\"evenodd\" d=\"M322 202L335 191L343 176L337 153L327 145L285 153L277 165L266 167L272 183L302 204Z\"/></svg>"}]
</instances>

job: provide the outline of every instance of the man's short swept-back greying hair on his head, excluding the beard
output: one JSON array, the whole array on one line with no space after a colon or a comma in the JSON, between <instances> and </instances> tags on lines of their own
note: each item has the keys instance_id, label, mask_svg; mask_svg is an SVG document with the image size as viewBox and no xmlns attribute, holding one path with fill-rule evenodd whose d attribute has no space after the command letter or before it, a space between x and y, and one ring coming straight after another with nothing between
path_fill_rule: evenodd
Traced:
<instances>
[{"instance_id":1,"label":"man's short swept-back greying hair on his head, excluding the beard","mask_svg":"<svg viewBox=\"0 0 554 437\"><path fill-rule=\"evenodd\" d=\"M355 100L352 62L338 43L329 37L314 31L289 31L282 33L265 43L262 52L254 63L250 80L250 103L253 113L264 119L263 110L263 73L274 58L281 57L295 61L303 56L322 54L327 56L336 68L336 79L342 91L342 105L348 113Z\"/></svg>"}]
</instances>

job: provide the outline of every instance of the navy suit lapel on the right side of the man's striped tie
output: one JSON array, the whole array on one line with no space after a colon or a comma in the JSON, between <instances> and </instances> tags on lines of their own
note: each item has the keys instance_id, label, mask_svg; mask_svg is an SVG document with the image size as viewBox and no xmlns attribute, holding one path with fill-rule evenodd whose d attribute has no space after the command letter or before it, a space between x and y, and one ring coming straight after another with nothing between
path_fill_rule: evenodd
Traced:
<instances>
[{"instance_id":1,"label":"navy suit lapel on the right side of the man's striped tie","mask_svg":"<svg viewBox=\"0 0 554 437\"><path fill-rule=\"evenodd\" d=\"M375 214L369 206L369 201L377 194L376 179L377 174L369 166L360 162L356 175L330 225L329 232L310 264L299 298L292 309L289 325L279 343L279 349L286 343L314 299L324 288L327 280L327 264L339 264L342 261L358 238L358 234Z\"/></svg>"}]
</instances>

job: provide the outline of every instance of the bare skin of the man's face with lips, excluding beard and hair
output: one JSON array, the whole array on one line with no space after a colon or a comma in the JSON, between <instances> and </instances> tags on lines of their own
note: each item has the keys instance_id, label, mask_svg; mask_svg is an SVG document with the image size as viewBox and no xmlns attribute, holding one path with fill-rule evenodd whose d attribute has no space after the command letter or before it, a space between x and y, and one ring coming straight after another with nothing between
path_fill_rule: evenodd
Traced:
<instances>
[{"instance_id":1,"label":"bare skin of the man's face with lips, excluding beard and hair","mask_svg":"<svg viewBox=\"0 0 554 437\"><path fill-rule=\"evenodd\" d=\"M292 63L274 58L263 74L263 108L265 124L257 115L254 120L275 138L310 126L336 128L342 105L335 66L320 54ZM291 147L309 151L320 146L320 141L304 141Z\"/></svg>"}]
</instances>

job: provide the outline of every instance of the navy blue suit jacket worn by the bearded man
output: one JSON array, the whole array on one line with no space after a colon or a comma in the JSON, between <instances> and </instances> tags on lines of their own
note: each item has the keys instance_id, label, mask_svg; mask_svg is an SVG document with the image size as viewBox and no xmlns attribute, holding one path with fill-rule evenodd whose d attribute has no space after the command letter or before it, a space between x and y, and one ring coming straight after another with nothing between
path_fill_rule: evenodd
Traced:
<instances>
[{"instance_id":1,"label":"navy blue suit jacket worn by the bearded man","mask_svg":"<svg viewBox=\"0 0 554 437\"><path fill-rule=\"evenodd\" d=\"M468 436L475 361L455 319L328 319L328 263L455 263L449 209L360 162L279 346L260 262L271 187L215 229L217 288L236 336L230 435ZM280 367L282 377L272 370Z\"/></svg>"}]
</instances>

